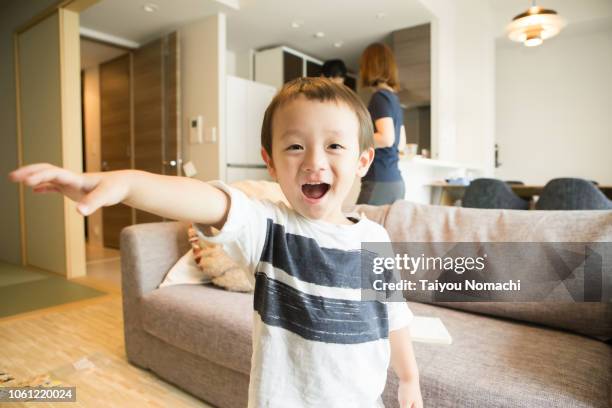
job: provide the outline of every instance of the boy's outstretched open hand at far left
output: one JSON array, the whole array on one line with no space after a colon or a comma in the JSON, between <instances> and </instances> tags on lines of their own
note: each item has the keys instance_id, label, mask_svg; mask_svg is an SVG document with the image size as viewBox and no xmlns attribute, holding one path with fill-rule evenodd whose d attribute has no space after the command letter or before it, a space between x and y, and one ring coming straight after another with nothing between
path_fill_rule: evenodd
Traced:
<instances>
[{"instance_id":1,"label":"boy's outstretched open hand at far left","mask_svg":"<svg viewBox=\"0 0 612 408\"><path fill-rule=\"evenodd\" d=\"M23 182L35 193L65 195L77 202L77 209L83 215L123 201L129 192L128 177L122 171L77 174L48 163L23 166L9 173L12 181Z\"/></svg>"}]
</instances>

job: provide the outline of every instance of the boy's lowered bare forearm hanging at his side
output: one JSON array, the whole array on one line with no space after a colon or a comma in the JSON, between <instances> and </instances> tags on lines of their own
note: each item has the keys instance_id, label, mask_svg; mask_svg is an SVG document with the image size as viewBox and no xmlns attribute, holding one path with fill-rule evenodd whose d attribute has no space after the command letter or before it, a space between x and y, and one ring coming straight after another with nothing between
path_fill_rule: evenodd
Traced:
<instances>
[{"instance_id":1,"label":"boy's lowered bare forearm hanging at his side","mask_svg":"<svg viewBox=\"0 0 612 408\"><path fill-rule=\"evenodd\" d=\"M399 379L397 399L400 408L423 408L423 397L409 327L389 332L391 366Z\"/></svg>"}]
</instances>

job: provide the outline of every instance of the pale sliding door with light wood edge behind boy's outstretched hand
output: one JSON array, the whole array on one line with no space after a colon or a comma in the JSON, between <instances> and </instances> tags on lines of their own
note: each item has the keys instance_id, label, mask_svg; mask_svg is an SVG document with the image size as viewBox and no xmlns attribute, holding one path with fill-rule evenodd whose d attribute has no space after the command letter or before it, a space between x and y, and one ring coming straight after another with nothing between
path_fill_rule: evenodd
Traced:
<instances>
[{"instance_id":1,"label":"pale sliding door with light wood edge behind boy's outstretched hand","mask_svg":"<svg viewBox=\"0 0 612 408\"><path fill-rule=\"evenodd\" d=\"M19 164L82 171L79 16L58 9L17 32ZM68 278L85 274L83 217L59 194L20 186L22 259Z\"/></svg>"}]
</instances>

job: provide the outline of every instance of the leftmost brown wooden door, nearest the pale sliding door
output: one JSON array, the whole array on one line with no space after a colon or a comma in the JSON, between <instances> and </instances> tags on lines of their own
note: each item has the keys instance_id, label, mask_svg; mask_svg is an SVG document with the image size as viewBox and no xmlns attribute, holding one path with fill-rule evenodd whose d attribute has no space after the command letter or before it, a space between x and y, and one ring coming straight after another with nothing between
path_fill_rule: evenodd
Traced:
<instances>
[{"instance_id":1,"label":"leftmost brown wooden door, nearest the pale sliding door","mask_svg":"<svg viewBox=\"0 0 612 408\"><path fill-rule=\"evenodd\" d=\"M102 171L129 169L130 55L100 65L100 156ZM132 209L117 204L102 209L104 246L119 248L119 234L132 224Z\"/></svg>"}]
</instances>

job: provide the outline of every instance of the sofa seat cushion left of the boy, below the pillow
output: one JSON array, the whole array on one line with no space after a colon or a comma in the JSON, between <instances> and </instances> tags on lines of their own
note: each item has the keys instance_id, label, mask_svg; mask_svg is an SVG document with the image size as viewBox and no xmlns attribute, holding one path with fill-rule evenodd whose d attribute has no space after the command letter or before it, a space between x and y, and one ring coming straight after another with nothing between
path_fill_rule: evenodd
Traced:
<instances>
[{"instance_id":1,"label":"sofa seat cushion left of the boy, below the pillow","mask_svg":"<svg viewBox=\"0 0 612 408\"><path fill-rule=\"evenodd\" d=\"M221 366L250 373L253 295L212 285L176 285L141 299L149 334Z\"/></svg>"}]
</instances>

